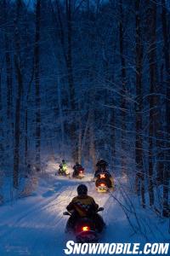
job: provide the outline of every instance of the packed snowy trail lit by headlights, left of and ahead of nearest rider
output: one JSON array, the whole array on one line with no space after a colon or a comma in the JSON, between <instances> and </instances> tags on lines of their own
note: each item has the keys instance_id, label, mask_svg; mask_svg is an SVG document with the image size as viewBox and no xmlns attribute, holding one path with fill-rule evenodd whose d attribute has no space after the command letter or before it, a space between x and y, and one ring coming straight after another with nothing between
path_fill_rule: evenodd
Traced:
<instances>
[{"instance_id":1,"label":"packed snowy trail lit by headlights, left of and ahead of nearest rider","mask_svg":"<svg viewBox=\"0 0 170 256\"><path fill-rule=\"evenodd\" d=\"M77 195L78 183L87 183L88 194L105 207L101 214L108 224L110 195L97 193L90 178L81 182L65 178L43 181L34 196L1 207L0 255L64 255L67 217L63 212Z\"/></svg>"}]
</instances>

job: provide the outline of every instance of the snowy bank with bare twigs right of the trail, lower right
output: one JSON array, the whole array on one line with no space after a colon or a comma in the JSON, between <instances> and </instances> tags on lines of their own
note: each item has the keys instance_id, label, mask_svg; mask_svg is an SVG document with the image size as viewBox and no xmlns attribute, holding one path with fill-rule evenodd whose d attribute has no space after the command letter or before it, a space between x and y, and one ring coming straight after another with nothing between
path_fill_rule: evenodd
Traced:
<instances>
[{"instance_id":1,"label":"snowy bank with bare twigs right of the trail, lower right","mask_svg":"<svg viewBox=\"0 0 170 256\"><path fill-rule=\"evenodd\" d=\"M162 218L161 212L157 211L159 197L156 198L155 206L143 208L140 198L134 193L132 184L129 184L125 177L116 178L116 190L119 191L118 196L111 193L111 197L122 209L124 217L127 219L128 230L131 233L128 237L136 238L139 236L139 240L143 242L166 242L170 240L169 219ZM145 200L146 202L149 201L147 193ZM127 241L127 237L125 241Z\"/></svg>"}]
</instances>

